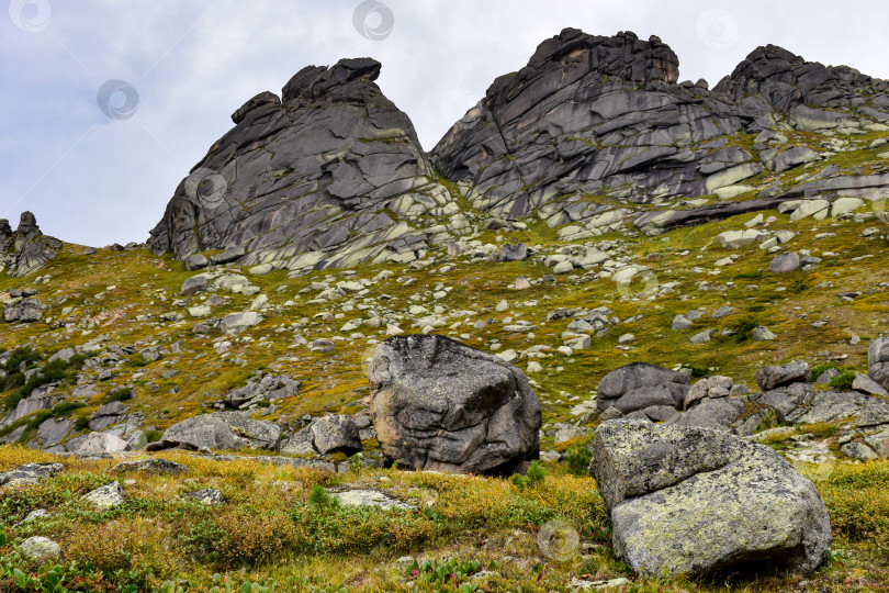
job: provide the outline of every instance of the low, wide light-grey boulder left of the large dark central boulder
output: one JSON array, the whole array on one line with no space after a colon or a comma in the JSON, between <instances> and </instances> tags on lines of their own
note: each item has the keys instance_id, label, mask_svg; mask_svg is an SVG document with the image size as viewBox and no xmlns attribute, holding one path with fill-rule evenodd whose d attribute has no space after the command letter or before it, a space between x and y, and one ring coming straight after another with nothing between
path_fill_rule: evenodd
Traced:
<instances>
[{"instance_id":1,"label":"low, wide light-grey boulder left of the large dark central boulder","mask_svg":"<svg viewBox=\"0 0 889 593\"><path fill-rule=\"evenodd\" d=\"M214 412L192 416L173 424L147 450L171 447L187 449L277 449L281 427L273 422L256 421L240 412Z\"/></svg>"}]
</instances>

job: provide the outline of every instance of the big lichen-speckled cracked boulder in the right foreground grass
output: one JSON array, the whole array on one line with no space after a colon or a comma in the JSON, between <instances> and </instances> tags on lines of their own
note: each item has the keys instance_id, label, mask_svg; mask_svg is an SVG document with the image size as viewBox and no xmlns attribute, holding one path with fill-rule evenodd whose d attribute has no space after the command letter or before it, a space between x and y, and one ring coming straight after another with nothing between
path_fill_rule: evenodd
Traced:
<instances>
[{"instance_id":1,"label":"big lichen-speckled cracked boulder in the right foreground grass","mask_svg":"<svg viewBox=\"0 0 889 593\"><path fill-rule=\"evenodd\" d=\"M615 553L649 577L811 572L831 549L814 485L773 449L725 433L609 421L589 471Z\"/></svg>"}]
</instances>

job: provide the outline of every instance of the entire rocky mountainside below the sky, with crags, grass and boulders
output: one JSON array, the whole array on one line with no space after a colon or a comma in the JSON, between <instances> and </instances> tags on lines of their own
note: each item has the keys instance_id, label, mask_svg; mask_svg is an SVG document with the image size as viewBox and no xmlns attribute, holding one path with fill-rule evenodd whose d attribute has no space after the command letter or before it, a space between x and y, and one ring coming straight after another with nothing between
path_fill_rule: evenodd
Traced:
<instances>
[{"instance_id":1,"label":"entire rocky mountainside below the sky, with crags, grass and boulders","mask_svg":"<svg viewBox=\"0 0 889 593\"><path fill-rule=\"evenodd\" d=\"M887 82L565 30L425 153L380 68L0 221L0 589L886 591Z\"/></svg>"}]
</instances>

